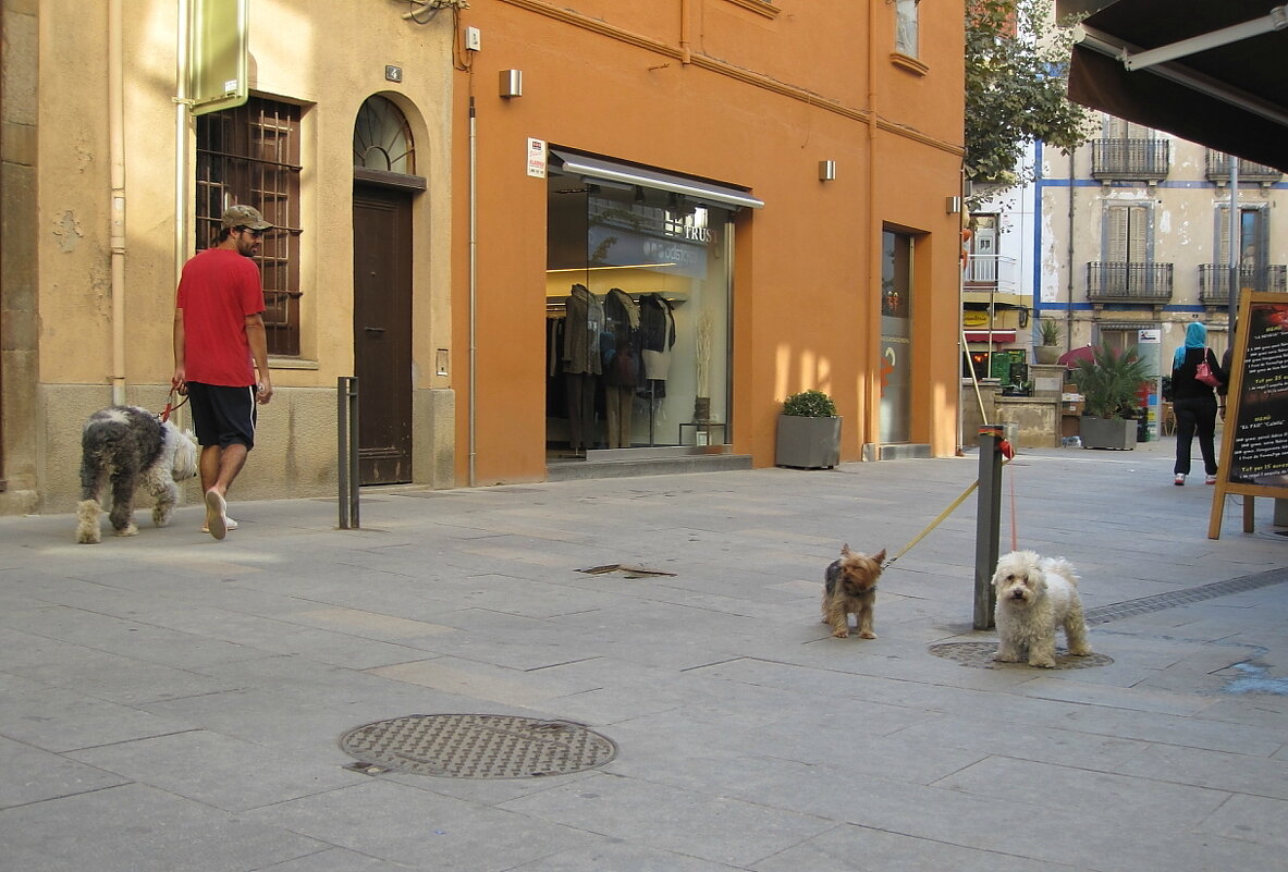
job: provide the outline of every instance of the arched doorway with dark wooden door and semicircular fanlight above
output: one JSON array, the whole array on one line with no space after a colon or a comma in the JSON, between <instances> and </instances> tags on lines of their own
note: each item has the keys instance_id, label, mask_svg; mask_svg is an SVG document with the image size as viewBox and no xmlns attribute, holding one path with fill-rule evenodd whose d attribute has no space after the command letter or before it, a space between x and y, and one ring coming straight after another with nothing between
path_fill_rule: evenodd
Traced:
<instances>
[{"instance_id":1,"label":"arched doorway with dark wooden door and semicircular fanlight above","mask_svg":"<svg viewBox=\"0 0 1288 872\"><path fill-rule=\"evenodd\" d=\"M412 200L425 189L402 111L375 95L353 125L353 365L362 484L412 480Z\"/></svg>"}]
</instances>

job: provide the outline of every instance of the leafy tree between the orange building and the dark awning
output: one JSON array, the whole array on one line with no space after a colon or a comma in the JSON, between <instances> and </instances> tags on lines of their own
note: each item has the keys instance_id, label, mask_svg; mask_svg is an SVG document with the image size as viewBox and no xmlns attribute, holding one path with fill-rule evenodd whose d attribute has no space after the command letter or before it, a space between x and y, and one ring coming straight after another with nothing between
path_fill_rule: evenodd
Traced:
<instances>
[{"instance_id":1,"label":"leafy tree between the orange building and the dark awning","mask_svg":"<svg viewBox=\"0 0 1288 872\"><path fill-rule=\"evenodd\" d=\"M1069 48L1051 0L966 1L967 179L1009 188L1032 178L1020 165L1030 143L1069 152L1087 140L1087 111L1066 97Z\"/></svg>"}]
</instances>

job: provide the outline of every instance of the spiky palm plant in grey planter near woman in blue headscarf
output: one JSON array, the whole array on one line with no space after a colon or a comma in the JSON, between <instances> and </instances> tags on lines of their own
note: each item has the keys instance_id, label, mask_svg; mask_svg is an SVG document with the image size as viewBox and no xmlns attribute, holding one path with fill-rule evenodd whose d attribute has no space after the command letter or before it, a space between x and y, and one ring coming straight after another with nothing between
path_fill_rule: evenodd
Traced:
<instances>
[{"instance_id":1,"label":"spiky palm plant in grey planter near woman in blue headscarf","mask_svg":"<svg viewBox=\"0 0 1288 872\"><path fill-rule=\"evenodd\" d=\"M1083 399L1079 435L1083 448L1136 447L1136 421L1141 383L1150 379L1149 365L1136 349L1115 352L1101 344L1091 359L1078 361L1074 380Z\"/></svg>"}]
</instances>

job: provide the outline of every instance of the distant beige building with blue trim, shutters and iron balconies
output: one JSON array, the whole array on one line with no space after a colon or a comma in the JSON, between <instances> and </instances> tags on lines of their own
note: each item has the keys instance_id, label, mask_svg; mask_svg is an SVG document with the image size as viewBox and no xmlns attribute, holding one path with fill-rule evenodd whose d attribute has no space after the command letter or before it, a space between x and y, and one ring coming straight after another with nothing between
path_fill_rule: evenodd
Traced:
<instances>
[{"instance_id":1,"label":"distant beige building with blue trim, shutters and iron balconies","mask_svg":"<svg viewBox=\"0 0 1288 872\"><path fill-rule=\"evenodd\" d=\"M1222 353L1231 214L1235 299L1288 290L1288 184L1279 170L1238 160L1231 207L1229 156L1112 116L1072 156L1046 151L1038 160L1036 314L1064 322L1070 348L1122 349L1157 330L1166 358L1186 325L1202 321Z\"/></svg>"}]
</instances>

